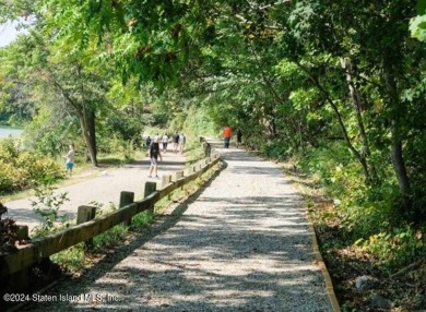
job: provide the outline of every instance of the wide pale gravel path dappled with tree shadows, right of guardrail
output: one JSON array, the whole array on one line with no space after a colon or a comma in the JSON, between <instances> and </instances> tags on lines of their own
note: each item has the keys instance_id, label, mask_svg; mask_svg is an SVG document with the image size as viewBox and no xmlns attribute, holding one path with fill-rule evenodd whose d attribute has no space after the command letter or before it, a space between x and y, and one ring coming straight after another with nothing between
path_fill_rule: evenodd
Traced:
<instances>
[{"instance_id":1,"label":"wide pale gravel path dappled with tree shadows, right of guardrail","mask_svg":"<svg viewBox=\"0 0 426 312\"><path fill-rule=\"evenodd\" d=\"M220 153L226 168L192 201L27 309L333 311L299 195L274 164Z\"/></svg>"}]
</instances>

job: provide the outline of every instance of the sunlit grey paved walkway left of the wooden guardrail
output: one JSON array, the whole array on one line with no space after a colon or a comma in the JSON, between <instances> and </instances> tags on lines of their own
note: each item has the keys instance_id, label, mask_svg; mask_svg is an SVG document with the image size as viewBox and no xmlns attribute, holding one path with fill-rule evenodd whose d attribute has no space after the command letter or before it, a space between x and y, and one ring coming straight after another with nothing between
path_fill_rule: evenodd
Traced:
<instances>
[{"instance_id":1,"label":"sunlit grey paved walkway left of the wooden guardrail","mask_svg":"<svg viewBox=\"0 0 426 312\"><path fill-rule=\"evenodd\" d=\"M158 165L158 175L169 175L185 167L185 154L175 154L169 151L163 154L163 160ZM60 188L56 194L68 193L67 201L60 208L60 213L68 215L70 219L75 219L78 207L90 203L97 203L103 207L108 207L110 203L118 206L120 192L134 192L135 196L143 195L146 181L155 181L147 178L150 159L135 161L120 168L98 168L91 170L93 177L73 177L73 179L86 179L83 182ZM83 173L86 175L86 173ZM8 207L7 217L16 220L19 225L28 226L29 231L38 226L42 219L34 213L31 201L36 197L28 197L3 203Z\"/></svg>"}]
</instances>

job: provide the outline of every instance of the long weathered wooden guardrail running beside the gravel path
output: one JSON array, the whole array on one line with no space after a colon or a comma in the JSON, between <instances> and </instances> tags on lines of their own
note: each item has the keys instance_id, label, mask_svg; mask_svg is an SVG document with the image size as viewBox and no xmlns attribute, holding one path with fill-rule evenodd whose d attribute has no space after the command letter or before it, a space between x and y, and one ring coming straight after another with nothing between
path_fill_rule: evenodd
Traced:
<instances>
[{"instance_id":1,"label":"long weathered wooden guardrail running beside the gravel path","mask_svg":"<svg viewBox=\"0 0 426 312\"><path fill-rule=\"evenodd\" d=\"M161 199L167 196L173 191L184 187L188 182L196 180L217 161L218 154L214 153L211 157L205 157L184 171L163 176L159 190L156 190L157 188L153 185L156 184L155 182L146 182L145 197L141 201L133 202L132 196L130 196L131 203L128 203L122 207L120 205L120 208L109 213L108 215L72 226L55 235L35 239L31 243L20 247L17 252L5 254L0 253L0 277L17 273L61 250L80 242L86 242L93 237L103 233L116 225L129 223L134 215L152 209L154 204ZM129 195L128 193L129 192L121 192L120 202L121 199L129 199L129 196L127 196Z\"/></svg>"}]
</instances>

